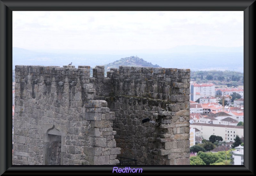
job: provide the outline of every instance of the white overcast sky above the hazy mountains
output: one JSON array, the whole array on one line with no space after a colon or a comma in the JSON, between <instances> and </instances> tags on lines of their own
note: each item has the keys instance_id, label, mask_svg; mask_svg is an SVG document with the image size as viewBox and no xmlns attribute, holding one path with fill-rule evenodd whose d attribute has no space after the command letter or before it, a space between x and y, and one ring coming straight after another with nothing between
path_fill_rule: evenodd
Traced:
<instances>
[{"instance_id":1,"label":"white overcast sky above the hazy mountains","mask_svg":"<svg viewBox=\"0 0 256 176\"><path fill-rule=\"evenodd\" d=\"M143 50L243 46L243 11L13 11L13 47Z\"/></svg>"}]
</instances>

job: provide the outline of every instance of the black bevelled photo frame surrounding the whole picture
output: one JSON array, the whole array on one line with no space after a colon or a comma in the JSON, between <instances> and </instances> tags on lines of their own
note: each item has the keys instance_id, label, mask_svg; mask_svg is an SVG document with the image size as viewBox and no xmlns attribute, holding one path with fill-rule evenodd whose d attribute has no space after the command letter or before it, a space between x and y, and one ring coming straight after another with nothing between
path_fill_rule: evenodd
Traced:
<instances>
[{"instance_id":1,"label":"black bevelled photo frame surrounding the whole picture","mask_svg":"<svg viewBox=\"0 0 256 176\"><path fill-rule=\"evenodd\" d=\"M12 11L244 11L244 166L140 167L152 175L254 175L255 0L0 0L0 175L113 174L113 166L12 165Z\"/></svg>"}]
</instances>

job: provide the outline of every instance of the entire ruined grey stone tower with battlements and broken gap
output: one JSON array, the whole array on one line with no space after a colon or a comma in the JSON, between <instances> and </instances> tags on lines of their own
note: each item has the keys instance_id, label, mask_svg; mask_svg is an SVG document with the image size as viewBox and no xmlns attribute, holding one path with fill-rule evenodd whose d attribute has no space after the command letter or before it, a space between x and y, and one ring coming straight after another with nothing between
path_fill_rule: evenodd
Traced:
<instances>
[{"instance_id":1,"label":"entire ruined grey stone tower with battlements and broken gap","mask_svg":"<svg viewBox=\"0 0 256 176\"><path fill-rule=\"evenodd\" d=\"M15 78L13 165L189 165L189 69L16 65Z\"/></svg>"}]
</instances>

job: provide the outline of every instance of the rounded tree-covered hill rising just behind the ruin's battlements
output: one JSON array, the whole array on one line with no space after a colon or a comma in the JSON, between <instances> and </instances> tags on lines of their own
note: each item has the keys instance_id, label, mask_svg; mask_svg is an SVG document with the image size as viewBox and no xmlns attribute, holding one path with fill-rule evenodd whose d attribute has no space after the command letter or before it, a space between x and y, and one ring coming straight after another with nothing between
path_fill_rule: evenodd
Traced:
<instances>
[{"instance_id":1,"label":"rounded tree-covered hill rising just behind the ruin's battlements","mask_svg":"<svg viewBox=\"0 0 256 176\"><path fill-rule=\"evenodd\" d=\"M125 57L116 60L112 63L106 64L105 71L109 71L110 68L119 68L119 66L135 66L135 67L155 67L159 68L159 65L153 65L151 62L147 62L137 56Z\"/></svg>"}]
</instances>

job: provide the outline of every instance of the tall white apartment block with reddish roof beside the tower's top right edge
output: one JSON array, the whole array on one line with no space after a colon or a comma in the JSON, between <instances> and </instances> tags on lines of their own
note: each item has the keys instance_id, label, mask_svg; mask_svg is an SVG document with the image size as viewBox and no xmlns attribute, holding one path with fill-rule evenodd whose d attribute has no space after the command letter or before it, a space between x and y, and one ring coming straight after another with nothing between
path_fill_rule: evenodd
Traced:
<instances>
[{"instance_id":1,"label":"tall white apartment block with reddish roof beside the tower's top right edge","mask_svg":"<svg viewBox=\"0 0 256 176\"><path fill-rule=\"evenodd\" d=\"M204 84L190 84L190 100L196 101L201 97L211 97L215 96L215 86L214 84L204 83Z\"/></svg>"}]
</instances>

